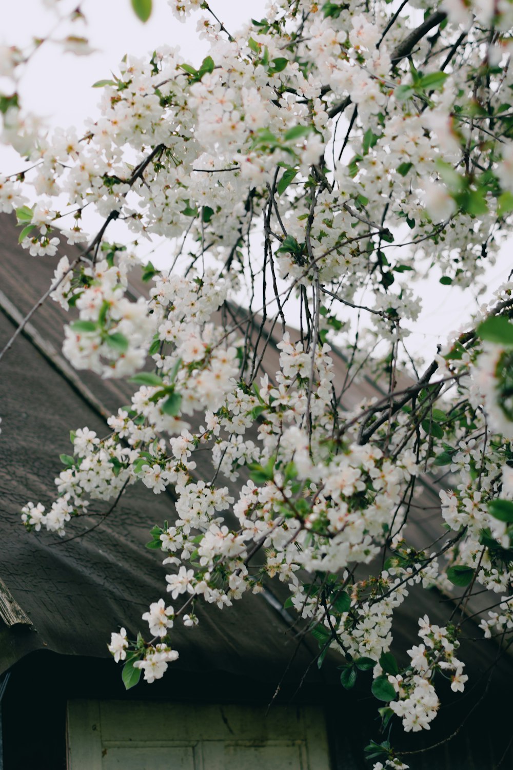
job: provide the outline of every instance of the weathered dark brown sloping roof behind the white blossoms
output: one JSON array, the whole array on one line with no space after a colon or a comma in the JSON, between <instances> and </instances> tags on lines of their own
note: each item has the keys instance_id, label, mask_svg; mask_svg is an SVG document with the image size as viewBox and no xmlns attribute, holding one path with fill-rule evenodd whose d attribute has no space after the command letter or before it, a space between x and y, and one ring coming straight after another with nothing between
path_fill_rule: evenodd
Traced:
<instances>
[{"instance_id":1,"label":"weathered dark brown sloping roof behind the white blossoms","mask_svg":"<svg viewBox=\"0 0 513 770\"><path fill-rule=\"evenodd\" d=\"M18 320L38 302L52 280L58 257L34 258L18 246L15 220L0 215L0 343L12 335ZM75 249L67 251L75 256ZM78 252L77 252L78 253ZM20 280L19 276L23 276ZM142 286L133 286L137 294ZM49 649L60 654L108 656L106 642L120 625L135 634L144 627L141 615L150 601L163 595L165 581L160 552L148 551L148 531L172 517L172 494L155 495L142 484L130 487L111 516L98 514L83 527L96 525L83 537L58 541L48 534L25 532L20 508L28 500L48 504L55 497L53 479L61 469L58 455L69 450L68 431L88 426L105 433L105 416L127 403L133 387L118 380L101 380L89 372L72 370L60 353L62 326L68 316L48 300L32 316L24 333L2 360L0 378L0 671L31 651ZM278 349L272 340L265 353L268 370L278 369ZM343 381L345 361L335 351L336 377ZM363 396L379 394L371 380L348 390L348 407ZM210 477L206 453L199 453L196 474ZM242 474L243 477L243 474ZM228 484L228 486L230 486ZM233 486L233 485L232 485ZM438 491L429 480L418 504L424 507L411 528L413 544L435 540L438 530ZM69 534L80 531L80 524ZM426 539L428 538L428 539ZM300 677L316 654L315 641L299 645L288 633L291 620L281 609L281 585L270 591L245 595L230 611L198 607L200 624L194 631L175 628L180 651L176 665L189 671L224 670L276 681L287 668L288 678ZM276 591L275 598L271 591ZM419 597L422 604L419 606ZM447 621L447 604L436 592L411 591L399 608L394 633L402 649L416 635L419 614L431 621ZM241 629L244 629L242 636ZM298 646L298 652L295 649ZM495 657L469 651L470 662L484 670ZM292 663L290 663L294 655ZM469 660L467 655L467 660ZM308 678L324 681L324 673L310 668Z\"/></svg>"}]
</instances>

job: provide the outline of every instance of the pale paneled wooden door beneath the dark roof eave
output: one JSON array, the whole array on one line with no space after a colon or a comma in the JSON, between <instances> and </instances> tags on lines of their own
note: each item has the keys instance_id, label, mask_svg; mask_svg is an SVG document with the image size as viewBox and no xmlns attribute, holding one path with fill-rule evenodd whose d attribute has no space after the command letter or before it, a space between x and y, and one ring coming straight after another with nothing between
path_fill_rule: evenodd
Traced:
<instances>
[{"instance_id":1,"label":"pale paneled wooden door beneath the dark roof eave","mask_svg":"<svg viewBox=\"0 0 513 770\"><path fill-rule=\"evenodd\" d=\"M328 770L312 706L69 701L68 770Z\"/></svg>"}]
</instances>

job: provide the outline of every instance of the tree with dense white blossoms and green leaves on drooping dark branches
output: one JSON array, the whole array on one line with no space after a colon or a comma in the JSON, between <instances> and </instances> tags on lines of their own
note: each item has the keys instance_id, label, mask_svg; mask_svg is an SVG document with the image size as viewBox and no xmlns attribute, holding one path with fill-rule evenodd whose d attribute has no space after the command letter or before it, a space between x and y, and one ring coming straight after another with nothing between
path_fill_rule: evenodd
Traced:
<instances>
[{"instance_id":1,"label":"tree with dense white blossoms and green leaves on drooping dark branches","mask_svg":"<svg viewBox=\"0 0 513 770\"><path fill-rule=\"evenodd\" d=\"M437 681L462 691L468 679L458 638L471 596L488 591L499 607L481 616L485 637L513 628L513 284L425 363L408 353L416 281L435 270L441 290L475 286L511 227L513 5L275 0L239 32L208 2L169 5L181 19L205 12L209 55L192 66L161 46L126 58L96 84L101 114L82 135L45 132L16 92L31 52L0 52L12 79L2 139L30 162L0 179L0 206L16 211L35 257L88 244L62 257L46 295L75 318L63 351L78 370L138 386L107 437L72 431L55 501L28 503L23 523L64 535L90 500L112 510L132 484L171 485L170 523L150 545L172 567L162 588L173 606L155 598L137 640L112 634L127 687L164 675L179 653L173 624L194 633L198 602L236 611L278 577L318 665L337 651L347 689L371 670L383 725L428 729ZM74 36L65 45L88 49ZM104 218L95 236L85 206ZM113 220L127 245L108 242ZM165 270L138 261L152 236L168 239ZM134 302L138 265L149 291ZM279 370L263 373L272 335ZM385 395L345 410L369 371ZM212 478L195 477L198 449ZM244 467L250 480L230 494ZM419 550L407 527L422 517L423 474L446 484L441 537ZM419 619L399 667L394 610L411 584L455 604L444 628ZM375 770L407 766L388 742L370 754Z\"/></svg>"}]
</instances>

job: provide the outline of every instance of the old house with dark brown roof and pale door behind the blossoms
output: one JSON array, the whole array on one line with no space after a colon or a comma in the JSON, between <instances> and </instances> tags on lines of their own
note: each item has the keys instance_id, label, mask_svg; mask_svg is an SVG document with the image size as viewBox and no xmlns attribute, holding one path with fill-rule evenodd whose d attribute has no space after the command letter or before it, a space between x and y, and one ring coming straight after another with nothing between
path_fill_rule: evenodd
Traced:
<instances>
[{"instance_id":1,"label":"old house with dark brown roof and pale door behind the blossoms","mask_svg":"<svg viewBox=\"0 0 513 770\"><path fill-rule=\"evenodd\" d=\"M13 219L0 216L0 346L48 288L55 268L55 259L30 257L17 241ZM105 417L131 393L125 383L72 370L60 352L62 323L60 308L45 303L0 368L0 768L368 767L362 747L369 738L384 739L370 674L355 695L338 683L336 654L319 670L317 643L297 633L279 584L245 596L232 611L200 608L198 628L173 631L180 658L165 678L125 691L106 643L119 625L132 636L144 628L142 613L163 595L161 557L144 544L151 527L169 517L172 494L155 496L135 485L112 516L86 519L84 529L95 529L82 537L75 537L78 526L63 541L22 529L22 505L55 494L52 482L58 455L69 448L68 430L87 425L102 434ZM272 344L267 361L276 368ZM343 357L335 363L342 376ZM354 397L375 389L368 381ZM419 537L431 531L428 509L438 502L428 480L422 502ZM103 512L99 504L93 511ZM446 620L439 594L424 592L421 607L417 598L412 591L398 614L400 643L415 635L418 614ZM426 746L442 743L411 762L405 755L411 768L489 770L502 755L501 766L513 766L508 708L500 705L508 702L513 665L501 658L494 667L498 648L478 644L477 653L469 648L462 656L474 689L464 696L443 694L442 713L423 738ZM408 736L397 743L405 751L410 744L418 748Z\"/></svg>"}]
</instances>

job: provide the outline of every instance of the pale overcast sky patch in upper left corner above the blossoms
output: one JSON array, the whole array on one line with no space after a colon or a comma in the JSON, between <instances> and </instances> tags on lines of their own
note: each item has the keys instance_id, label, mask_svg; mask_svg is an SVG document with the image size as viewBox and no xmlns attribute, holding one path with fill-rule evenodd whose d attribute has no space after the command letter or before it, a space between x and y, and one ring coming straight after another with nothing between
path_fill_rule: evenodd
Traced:
<instances>
[{"instance_id":1,"label":"pale overcast sky patch in upper left corner above the blossoms","mask_svg":"<svg viewBox=\"0 0 513 770\"><path fill-rule=\"evenodd\" d=\"M192 64L201 62L207 54L207 43L198 40L196 33L198 19L205 12L196 12L181 23L172 15L167 0L153 0L152 15L142 24L132 11L130 0L58 2L62 15L77 5L87 23L60 25L51 37L55 40L70 34L87 37L96 52L87 57L63 55L60 45L45 43L28 65L20 88L25 105L36 114L45 115L53 126L81 126L85 118L95 115L99 92L91 86L98 80L108 79L126 53L146 57L158 45L170 45L178 47ZM230 30L241 26L248 17L261 18L266 2L211 0L210 5ZM47 37L57 19L55 12L45 8L45 0L2 2L0 44L23 47L34 37ZM7 170L2 168L3 172Z\"/></svg>"}]
</instances>

